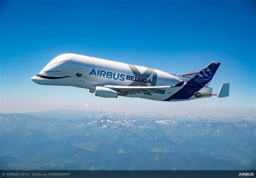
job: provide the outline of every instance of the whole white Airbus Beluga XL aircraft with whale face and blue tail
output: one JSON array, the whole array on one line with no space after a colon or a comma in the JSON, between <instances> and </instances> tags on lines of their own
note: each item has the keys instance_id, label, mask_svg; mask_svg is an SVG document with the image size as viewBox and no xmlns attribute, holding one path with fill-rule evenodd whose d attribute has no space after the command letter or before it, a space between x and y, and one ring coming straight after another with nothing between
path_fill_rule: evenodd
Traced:
<instances>
[{"instance_id":1,"label":"whole white Airbus Beluga XL aircraft with whale face and blue tail","mask_svg":"<svg viewBox=\"0 0 256 178\"><path fill-rule=\"evenodd\" d=\"M137 97L159 101L183 101L211 97L208 87L220 63L212 62L199 72L177 75L157 69L87 57L62 54L31 78L40 85L87 88L98 97ZM229 94L224 83L219 98Z\"/></svg>"}]
</instances>

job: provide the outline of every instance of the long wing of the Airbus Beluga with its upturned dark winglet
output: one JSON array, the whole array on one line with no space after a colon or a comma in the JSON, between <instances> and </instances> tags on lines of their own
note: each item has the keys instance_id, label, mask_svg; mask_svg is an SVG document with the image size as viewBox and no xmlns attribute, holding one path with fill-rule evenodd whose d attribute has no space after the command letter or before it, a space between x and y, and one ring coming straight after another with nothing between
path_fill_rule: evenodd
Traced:
<instances>
[{"instance_id":1,"label":"long wing of the Airbus Beluga with its upturned dark winglet","mask_svg":"<svg viewBox=\"0 0 256 178\"><path fill-rule=\"evenodd\" d=\"M176 85L169 85L169 86L117 86L117 85L105 85L103 87L110 88L111 90L117 91L119 94L136 94L136 93L160 93L164 94L165 90L172 87L180 87L184 84L184 81Z\"/></svg>"}]
</instances>

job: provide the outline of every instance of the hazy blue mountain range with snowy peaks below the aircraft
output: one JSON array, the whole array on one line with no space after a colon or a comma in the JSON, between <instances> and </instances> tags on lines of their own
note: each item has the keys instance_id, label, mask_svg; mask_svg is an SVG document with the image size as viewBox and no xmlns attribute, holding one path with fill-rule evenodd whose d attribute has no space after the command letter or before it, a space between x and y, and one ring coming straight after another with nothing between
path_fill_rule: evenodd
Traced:
<instances>
[{"instance_id":1,"label":"hazy blue mountain range with snowy peaks below the aircraft","mask_svg":"<svg viewBox=\"0 0 256 178\"><path fill-rule=\"evenodd\" d=\"M256 119L56 110L0 114L0 169L256 169Z\"/></svg>"}]
</instances>

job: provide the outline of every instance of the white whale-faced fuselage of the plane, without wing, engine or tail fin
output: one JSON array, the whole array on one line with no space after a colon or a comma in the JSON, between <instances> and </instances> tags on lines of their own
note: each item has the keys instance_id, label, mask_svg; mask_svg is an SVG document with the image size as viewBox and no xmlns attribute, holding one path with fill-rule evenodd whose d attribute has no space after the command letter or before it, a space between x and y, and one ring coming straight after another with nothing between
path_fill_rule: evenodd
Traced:
<instances>
[{"instance_id":1,"label":"white whale-faced fuselage of the plane, without wing, engine or tail fin","mask_svg":"<svg viewBox=\"0 0 256 178\"><path fill-rule=\"evenodd\" d=\"M182 81L160 70L78 54L62 54L56 57L31 79L41 85L75 86L87 88L90 92L95 92L96 86L167 86ZM131 93L124 96L164 101L183 86L151 94ZM212 88L203 87L200 89L202 91L211 93ZM196 98L193 96L189 99Z\"/></svg>"}]
</instances>

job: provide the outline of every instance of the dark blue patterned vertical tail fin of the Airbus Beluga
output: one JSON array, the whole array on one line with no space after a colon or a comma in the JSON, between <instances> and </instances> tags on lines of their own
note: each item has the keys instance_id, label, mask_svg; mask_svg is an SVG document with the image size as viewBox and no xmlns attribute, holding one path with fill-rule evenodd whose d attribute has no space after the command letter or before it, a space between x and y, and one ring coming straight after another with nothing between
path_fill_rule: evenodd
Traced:
<instances>
[{"instance_id":1,"label":"dark blue patterned vertical tail fin of the Airbus Beluga","mask_svg":"<svg viewBox=\"0 0 256 178\"><path fill-rule=\"evenodd\" d=\"M199 72L183 74L182 77L188 78L187 83L198 86L205 86L212 80L219 66L220 63L211 62L211 64L207 65L204 69L200 70Z\"/></svg>"}]
</instances>

